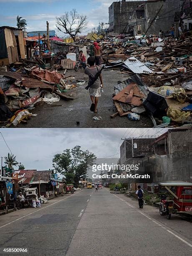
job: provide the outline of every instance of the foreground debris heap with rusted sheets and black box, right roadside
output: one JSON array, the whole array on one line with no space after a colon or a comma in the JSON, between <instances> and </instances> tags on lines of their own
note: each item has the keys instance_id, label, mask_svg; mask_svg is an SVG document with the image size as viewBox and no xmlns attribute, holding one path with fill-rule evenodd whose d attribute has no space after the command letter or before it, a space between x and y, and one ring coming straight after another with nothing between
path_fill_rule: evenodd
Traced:
<instances>
[{"instance_id":1,"label":"foreground debris heap with rusted sheets and black box, right roadside","mask_svg":"<svg viewBox=\"0 0 192 256\"><path fill-rule=\"evenodd\" d=\"M154 127L192 123L192 79L183 82L182 87L166 84L147 87L138 74L119 82L114 86L113 97L117 112L111 118L120 115L127 116L129 120L139 120L141 114L147 113Z\"/></svg>"}]
</instances>

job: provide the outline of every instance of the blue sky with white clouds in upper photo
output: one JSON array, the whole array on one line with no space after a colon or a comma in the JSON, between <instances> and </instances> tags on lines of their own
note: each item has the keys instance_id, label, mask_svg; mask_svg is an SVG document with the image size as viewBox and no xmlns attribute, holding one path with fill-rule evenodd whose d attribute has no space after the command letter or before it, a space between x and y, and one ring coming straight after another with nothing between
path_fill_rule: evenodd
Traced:
<instances>
[{"instance_id":1,"label":"blue sky with white clouds in upper photo","mask_svg":"<svg viewBox=\"0 0 192 256\"><path fill-rule=\"evenodd\" d=\"M51 30L56 30L56 17L75 8L87 15L88 26L83 33L91 32L100 22L108 23L108 8L113 0L0 0L0 26L16 26L16 17L27 20L27 31L46 30L46 20ZM56 32L58 32L56 30ZM59 36L64 36L61 32Z\"/></svg>"}]
</instances>

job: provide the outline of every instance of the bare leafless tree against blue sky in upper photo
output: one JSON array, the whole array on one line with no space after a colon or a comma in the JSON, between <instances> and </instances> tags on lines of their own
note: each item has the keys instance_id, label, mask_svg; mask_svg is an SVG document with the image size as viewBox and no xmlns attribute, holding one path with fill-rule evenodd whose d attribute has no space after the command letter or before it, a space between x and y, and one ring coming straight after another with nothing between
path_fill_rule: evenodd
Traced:
<instances>
[{"instance_id":1,"label":"bare leafless tree against blue sky in upper photo","mask_svg":"<svg viewBox=\"0 0 192 256\"><path fill-rule=\"evenodd\" d=\"M78 33L81 33L83 28L87 26L86 15L80 15L73 9L70 13L66 12L61 17L57 17L56 27L59 31L69 34L75 41Z\"/></svg>"}]
</instances>

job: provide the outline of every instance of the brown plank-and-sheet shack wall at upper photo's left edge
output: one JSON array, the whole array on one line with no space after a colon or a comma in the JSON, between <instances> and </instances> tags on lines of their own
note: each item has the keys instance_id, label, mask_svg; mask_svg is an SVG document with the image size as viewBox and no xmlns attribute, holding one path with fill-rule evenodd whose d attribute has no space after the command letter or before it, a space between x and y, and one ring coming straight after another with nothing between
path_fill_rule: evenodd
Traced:
<instances>
[{"instance_id":1,"label":"brown plank-and-sheet shack wall at upper photo's left edge","mask_svg":"<svg viewBox=\"0 0 192 256\"><path fill-rule=\"evenodd\" d=\"M25 47L22 29L0 27L0 66L10 65L25 59Z\"/></svg>"}]
</instances>

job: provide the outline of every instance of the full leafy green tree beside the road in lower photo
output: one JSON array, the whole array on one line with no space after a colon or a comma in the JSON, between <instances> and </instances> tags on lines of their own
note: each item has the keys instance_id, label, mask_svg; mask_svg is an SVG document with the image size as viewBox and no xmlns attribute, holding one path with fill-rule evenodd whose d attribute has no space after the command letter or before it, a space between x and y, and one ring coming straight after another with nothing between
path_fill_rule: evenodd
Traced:
<instances>
[{"instance_id":1,"label":"full leafy green tree beside the road in lower photo","mask_svg":"<svg viewBox=\"0 0 192 256\"><path fill-rule=\"evenodd\" d=\"M81 150L81 146L65 149L63 153L53 158L53 167L56 172L66 177L66 182L74 182L87 178L88 166L94 164L96 156L90 151Z\"/></svg>"}]
</instances>

